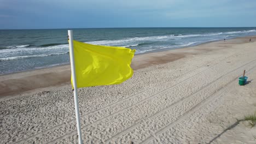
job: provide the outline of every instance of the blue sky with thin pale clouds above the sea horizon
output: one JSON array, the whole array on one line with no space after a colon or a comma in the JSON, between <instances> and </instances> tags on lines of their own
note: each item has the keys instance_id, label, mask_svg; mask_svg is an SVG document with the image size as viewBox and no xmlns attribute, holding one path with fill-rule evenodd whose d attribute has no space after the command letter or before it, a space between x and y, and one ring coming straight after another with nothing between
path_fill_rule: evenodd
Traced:
<instances>
[{"instance_id":1,"label":"blue sky with thin pale clouds above the sea horizon","mask_svg":"<svg viewBox=\"0 0 256 144\"><path fill-rule=\"evenodd\" d=\"M0 29L255 26L255 0L0 0Z\"/></svg>"}]
</instances>

